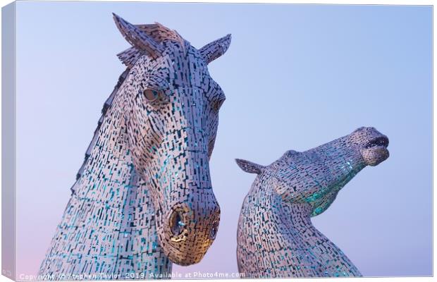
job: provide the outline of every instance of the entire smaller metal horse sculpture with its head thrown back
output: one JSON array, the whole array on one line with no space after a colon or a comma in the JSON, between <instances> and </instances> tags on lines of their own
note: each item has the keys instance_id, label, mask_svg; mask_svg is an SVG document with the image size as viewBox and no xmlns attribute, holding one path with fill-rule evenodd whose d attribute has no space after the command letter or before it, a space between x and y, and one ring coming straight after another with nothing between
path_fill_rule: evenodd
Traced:
<instances>
[{"instance_id":1,"label":"entire smaller metal horse sculpture with its head thrown back","mask_svg":"<svg viewBox=\"0 0 437 282\"><path fill-rule=\"evenodd\" d=\"M358 128L304 152L289 150L268 166L237 159L257 178L238 222L238 269L245 277L361 276L311 222L366 166L388 156L388 137Z\"/></svg>"}]
</instances>

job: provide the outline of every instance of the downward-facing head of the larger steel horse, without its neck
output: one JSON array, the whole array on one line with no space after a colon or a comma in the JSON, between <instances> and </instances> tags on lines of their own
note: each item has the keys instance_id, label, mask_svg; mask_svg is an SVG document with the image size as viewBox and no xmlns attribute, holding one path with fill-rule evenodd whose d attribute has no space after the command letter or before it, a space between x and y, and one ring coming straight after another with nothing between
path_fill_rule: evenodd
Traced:
<instances>
[{"instance_id":1,"label":"downward-facing head of the larger steel horse, without its neck","mask_svg":"<svg viewBox=\"0 0 437 282\"><path fill-rule=\"evenodd\" d=\"M225 95L207 65L226 52L230 35L195 49L159 23L132 25L114 14L132 45L118 57L130 68L125 104L135 171L152 194L159 243L172 262L199 262L216 237L220 207L209 158Z\"/></svg>"}]
</instances>

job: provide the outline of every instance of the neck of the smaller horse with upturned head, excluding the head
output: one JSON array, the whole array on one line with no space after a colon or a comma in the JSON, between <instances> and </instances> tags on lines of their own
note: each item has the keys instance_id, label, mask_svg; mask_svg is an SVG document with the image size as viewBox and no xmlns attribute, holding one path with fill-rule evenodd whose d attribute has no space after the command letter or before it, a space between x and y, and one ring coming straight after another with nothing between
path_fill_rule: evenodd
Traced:
<instances>
[{"instance_id":1,"label":"neck of the smaller horse with upturned head, excluding the head","mask_svg":"<svg viewBox=\"0 0 437 282\"><path fill-rule=\"evenodd\" d=\"M313 226L311 205L283 202L269 178L257 177L242 207L240 271L258 278L360 276L343 252ZM254 255L257 259L250 259Z\"/></svg>"}]
</instances>

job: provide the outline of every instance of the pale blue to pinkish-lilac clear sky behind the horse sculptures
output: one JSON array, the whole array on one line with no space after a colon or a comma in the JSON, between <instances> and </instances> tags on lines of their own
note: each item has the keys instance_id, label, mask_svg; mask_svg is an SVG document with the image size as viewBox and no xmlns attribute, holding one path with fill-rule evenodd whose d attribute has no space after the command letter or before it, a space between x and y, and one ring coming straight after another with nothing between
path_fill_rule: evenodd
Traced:
<instances>
[{"instance_id":1,"label":"pale blue to pinkish-lilac clear sky behind the horse sculptures","mask_svg":"<svg viewBox=\"0 0 437 282\"><path fill-rule=\"evenodd\" d=\"M432 275L432 8L285 4L17 4L17 271L36 274L70 197L101 106L129 47L113 23L159 22L194 47L232 34L209 65L226 102L211 158L219 233L187 273L238 271L236 230L271 164L374 126L390 158L364 168L312 219L364 276Z\"/></svg>"}]
</instances>

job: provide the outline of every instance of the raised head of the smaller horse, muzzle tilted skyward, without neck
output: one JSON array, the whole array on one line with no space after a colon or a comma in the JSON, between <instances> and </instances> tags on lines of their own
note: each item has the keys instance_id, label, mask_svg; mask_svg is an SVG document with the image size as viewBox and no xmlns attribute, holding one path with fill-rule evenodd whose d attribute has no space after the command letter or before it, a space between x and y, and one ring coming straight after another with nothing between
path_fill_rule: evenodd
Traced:
<instances>
[{"instance_id":1,"label":"raised head of the smaller horse, muzzle tilted skyward, without neck","mask_svg":"<svg viewBox=\"0 0 437 282\"><path fill-rule=\"evenodd\" d=\"M324 212L343 188L365 166L389 157L388 137L375 128L358 128L305 152L289 150L269 166L237 159L243 171L273 176L273 189L292 204L308 203L312 216Z\"/></svg>"}]
</instances>

